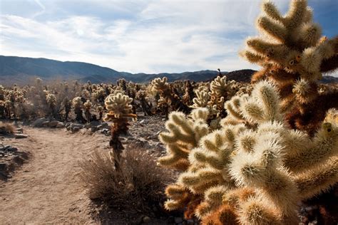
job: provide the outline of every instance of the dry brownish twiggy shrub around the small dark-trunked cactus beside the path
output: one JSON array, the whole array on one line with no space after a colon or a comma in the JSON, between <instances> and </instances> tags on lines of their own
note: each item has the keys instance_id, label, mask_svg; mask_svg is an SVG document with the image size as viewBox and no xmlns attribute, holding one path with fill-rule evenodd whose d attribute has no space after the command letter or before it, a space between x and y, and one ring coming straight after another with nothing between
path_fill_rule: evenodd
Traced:
<instances>
[{"instance_id":1,"label":"dry brownish twiggy shrub around the small dark-trunked cactus beside the path","mask_svg":"<svg viewBox=\"0 0 338 225\"><path fill-rule=\"evenodd\" d=\"M173 182L173 172L158 167L155 155L145 150L127 150L116 170L112 152L94 152L80 162L81 181L91 199L99 199L114 208L147 211L152 204L164 202L164 189Z\"/></svg>"}]
</instances>

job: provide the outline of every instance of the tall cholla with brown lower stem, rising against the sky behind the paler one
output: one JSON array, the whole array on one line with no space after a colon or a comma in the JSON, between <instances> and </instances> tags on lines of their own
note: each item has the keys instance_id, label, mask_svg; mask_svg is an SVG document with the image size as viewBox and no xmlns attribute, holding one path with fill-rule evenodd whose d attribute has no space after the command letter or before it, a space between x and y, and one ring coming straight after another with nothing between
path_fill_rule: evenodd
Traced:
<instances>
[{"instance_id":1,"label":"tall cholla with brown lower stem, rising against the sky behind the paler one","mask_svg":"<svg viewBox=\"0 0 338 225\"><path fill-rule=\"evenodd\" d=\"M292 127L314 134L329 108L337 108L338 93L317 91L322 73L338 67L338 36L321 34L312 21L312 9L306 0L292 0L282 16L270 1L262 4L266 16L257 19L257 27L266 35L248 38L242 52L251 63L263 67L252 82L268 78L275 82L282 98L282 110ZM316 112L316 113L314 113Z\"/></svg>"}]
</instances>

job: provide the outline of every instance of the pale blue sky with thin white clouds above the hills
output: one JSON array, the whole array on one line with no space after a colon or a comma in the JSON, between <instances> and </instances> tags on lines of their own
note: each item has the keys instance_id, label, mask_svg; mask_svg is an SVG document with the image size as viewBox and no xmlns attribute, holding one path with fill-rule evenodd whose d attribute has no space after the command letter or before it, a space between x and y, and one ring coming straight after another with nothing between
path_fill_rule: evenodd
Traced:
<instances>
[{"instance_id":1,"label":"pale blue sky with thin white clouds above the hills","mask_svg":"<svg viewBox=\"0 0 338 225\"><path fill-rule=\"evenodd\" d=\"M285 13L289 1L275 0ZM338 1L309 0L325 36ZM0 0L0 55L81 61L130 73L259 67L238 56L257 36L256 0Z\"/></svg>"}]
</instances>

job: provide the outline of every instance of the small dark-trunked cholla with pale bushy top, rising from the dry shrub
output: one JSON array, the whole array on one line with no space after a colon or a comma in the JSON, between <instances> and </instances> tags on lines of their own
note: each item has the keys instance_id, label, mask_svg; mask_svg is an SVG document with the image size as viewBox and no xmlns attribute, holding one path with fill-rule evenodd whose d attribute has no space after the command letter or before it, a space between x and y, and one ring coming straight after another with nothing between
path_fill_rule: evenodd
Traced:
<instances>
[{"instance_id":1,"label":"small dark-trunked cholla with pale bushy top, rising from the dry shrub","mask_svg":"<svg viewBox=\"0 0 338 225\"><path fill-rule=\"evenodd\" d=\"M129 98L128 95L122 95L118 93L117 95L108 95L105 100L106 109L108 113L103 118L105 121L112 121L111 125L111 141L109 145L113 147L116 160L115 165L118 169L118 164L121 159L121 152L123 150L123 145L118 137L121 134L126 134L128 131L128 119L136 119L136 115L132 114L133 106L130 103L133 101L132 98Z\"/></svg>"}]
</instances>

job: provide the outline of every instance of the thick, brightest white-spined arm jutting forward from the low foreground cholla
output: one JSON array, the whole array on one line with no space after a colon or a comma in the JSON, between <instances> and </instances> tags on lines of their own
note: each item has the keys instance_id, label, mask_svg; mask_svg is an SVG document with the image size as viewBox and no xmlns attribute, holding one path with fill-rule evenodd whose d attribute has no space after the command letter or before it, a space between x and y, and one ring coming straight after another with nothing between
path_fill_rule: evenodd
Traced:
<instances>
[{"instance_id":1,"label":"thick, brightest white-spined arm jutting forward from the low foreground cholla","mask_svg":"<svg viewBox=\"0 0 338 225\"><path fill-rule=\"evenodd\" d=\"M253 143L252 150L238 150L240 154L233 157L230 174L238 184L259 188L280 210L281 215L292 214L297 206L297 187L285 170L278 169L279 164L282 164L283 149L280 135L274 132L265 132L263 135L260 127L257 132L261 135L256 136L259 138Z\"/></svg>"}]
</instances>

